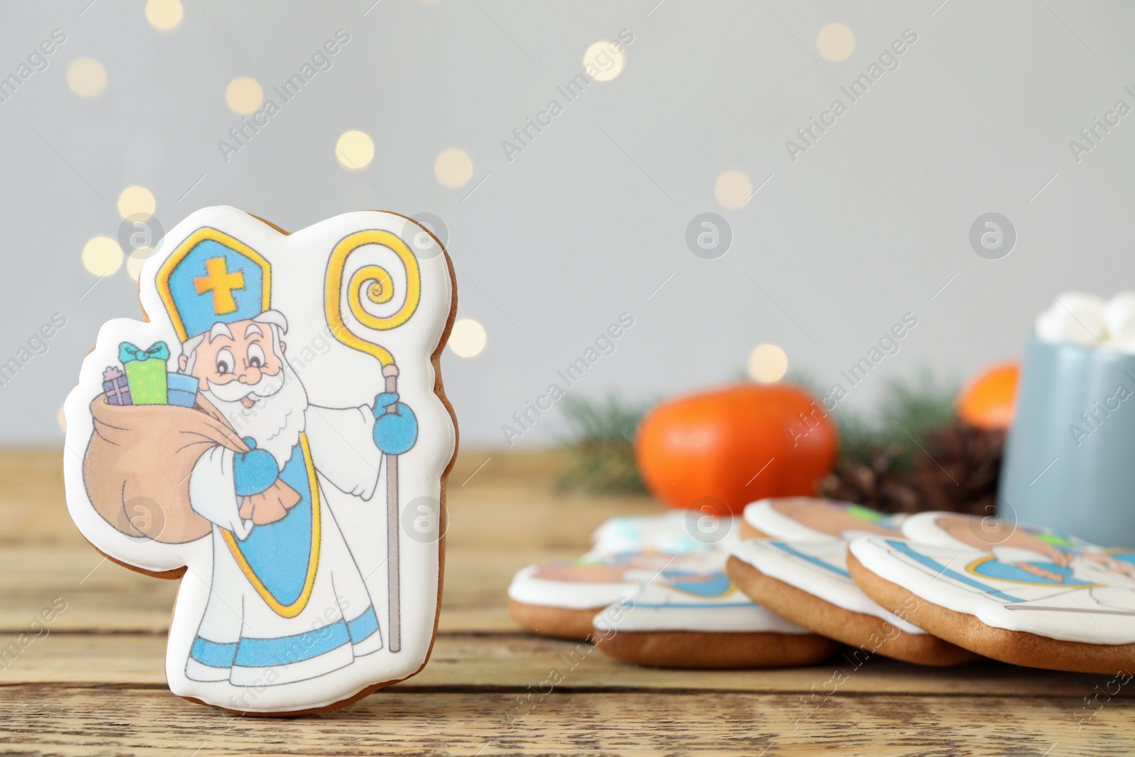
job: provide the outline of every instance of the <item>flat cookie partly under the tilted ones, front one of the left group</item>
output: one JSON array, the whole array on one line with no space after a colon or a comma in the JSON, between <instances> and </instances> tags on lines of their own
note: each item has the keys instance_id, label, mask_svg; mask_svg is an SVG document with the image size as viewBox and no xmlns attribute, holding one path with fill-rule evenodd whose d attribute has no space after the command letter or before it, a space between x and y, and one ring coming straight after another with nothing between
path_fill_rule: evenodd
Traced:
<instances>
[{"instance_id":1,"label":"flat cookie partly under the tilted ones, front one of the left group","mask_svg":"<svg viewBox=\"0 0 1135 757\"><path fill-rule=\"evenodd\" d=\"M836 648L754 603L722 571L674 563L596 614L594 626L604 653L657 667L791 667Z\"/></svg>"}]
</instances>

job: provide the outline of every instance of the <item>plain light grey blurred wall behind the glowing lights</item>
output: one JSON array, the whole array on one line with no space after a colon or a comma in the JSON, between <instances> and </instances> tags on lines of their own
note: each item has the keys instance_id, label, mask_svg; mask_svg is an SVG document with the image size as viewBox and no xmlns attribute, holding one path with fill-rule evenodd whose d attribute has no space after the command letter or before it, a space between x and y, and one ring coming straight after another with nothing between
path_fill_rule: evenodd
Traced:
<instances>
[{"instance_id":1,"label":"plain light grey blurred wall behind the glowing lights","mask_svg":"<svg viewBox=\"0 0 1135 757\"><path fill-rule=\"evenodd\" d=\"M1068 145L1118 99L1135 106L1123 89L1135 90L1130 3L184 0L182 24L160 33L143 3L89 2L7 5L0 24L3 75L52 28L67 33L0 103L0 362L52 313L67 318L0 387L0 443L60 444L57 413L99 325L138 317L125 267L95 283L79 256L116 235L132 184L154 193L166 228L212 204L288 229L365 208L445 219L459 316L488 333L477 358L443 359L476 446L503 444L501 426L621 312L634 326L571 393L713 385L765 342L827 385L915 313L901 351L851 390L861 406L888 377L928 367L960 379L1019 355L1060 291L1130 286L1135 113L1079 162ZM856 34L840 62L816 51L832 22ZM228 82L253 76L271 96L338 28L351 42L334 67L226 163L217 142L239 121ZM592 83L507 161L502 140L563 102L555 89L583 51L623 28L634 41L622 75ZM785 140L907 28L918 41L900 67L790 160ZM94 99L67 86L79 56L107 69ZM347 129L376 143L362 175L323 136ZM449 146L474 162L460 190L434 176ZM726 169L768 180L728 210L714 197ZM733 232L716 260L684 242L707 211ZM986 212L1017 230L1000 260L968 242ZM556 439L560 413L520 443Z\"/></svg>"}]
</instances>

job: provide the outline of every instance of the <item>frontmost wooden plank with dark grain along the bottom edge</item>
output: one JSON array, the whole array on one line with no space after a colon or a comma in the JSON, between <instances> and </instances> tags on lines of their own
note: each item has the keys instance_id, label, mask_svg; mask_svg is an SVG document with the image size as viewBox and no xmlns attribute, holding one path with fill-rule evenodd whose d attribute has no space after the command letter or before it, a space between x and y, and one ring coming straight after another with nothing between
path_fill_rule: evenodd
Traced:
<instances>
[{"instance_id":1,"label":"frontmost wooden plank with dark grain along the bottom edge","mask_svg":"<svg viewBox=\"0 0 1135 757\"><path fill-rule=\"evenodd\" d=\"M1135 708L1044 697L829 697L807 720L767 693L390 689L323 716L237 717L163 691L0 688L0 743L28 754L117 755L1088 755L1135 750Z\"/></svg>"}]
</instances>

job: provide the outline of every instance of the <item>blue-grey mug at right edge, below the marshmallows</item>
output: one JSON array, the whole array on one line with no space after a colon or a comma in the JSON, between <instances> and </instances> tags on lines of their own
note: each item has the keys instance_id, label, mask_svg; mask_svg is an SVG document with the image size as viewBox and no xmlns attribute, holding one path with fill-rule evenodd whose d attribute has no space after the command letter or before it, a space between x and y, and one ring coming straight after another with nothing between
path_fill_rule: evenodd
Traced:
<instances>
[{"instance_id":1,"label":"blue-grey mug at right edge, below the marshmallows","mask_svg":"<svg viewBox=\"0 0 1135 757\"><path fill-rule=\"evenodd\" d=\"M998 515L1135 547L1135 354L1032 338Z\"/></svg>"}]
</instances>

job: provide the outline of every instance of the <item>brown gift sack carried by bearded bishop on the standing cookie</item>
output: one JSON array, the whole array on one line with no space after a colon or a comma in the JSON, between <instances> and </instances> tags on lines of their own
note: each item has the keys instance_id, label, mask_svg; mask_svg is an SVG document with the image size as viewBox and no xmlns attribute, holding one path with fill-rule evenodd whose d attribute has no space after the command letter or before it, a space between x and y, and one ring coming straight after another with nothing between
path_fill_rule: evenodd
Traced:
<instances>
[{"instance_id":1,"label":"brown gift sack carried by bearded bishop on the standing cookie","mask_svg":"<svg viewBox=\"0 0 1135 757\"><path fill-rule=\"evenodd\" d=\"M163 544L184 544L209 533L212 524L190 506L190 473L218 445L249 452L236 430L203 397L197 407L111 405L106 395L91 403L94 434L83 461L83 482L95 511L118 531ZM300 502L300 494L276 481L245 497L241 514L270 522ZM257 508L278 513L252 515Z\"/></svg>"}]
</instances>

